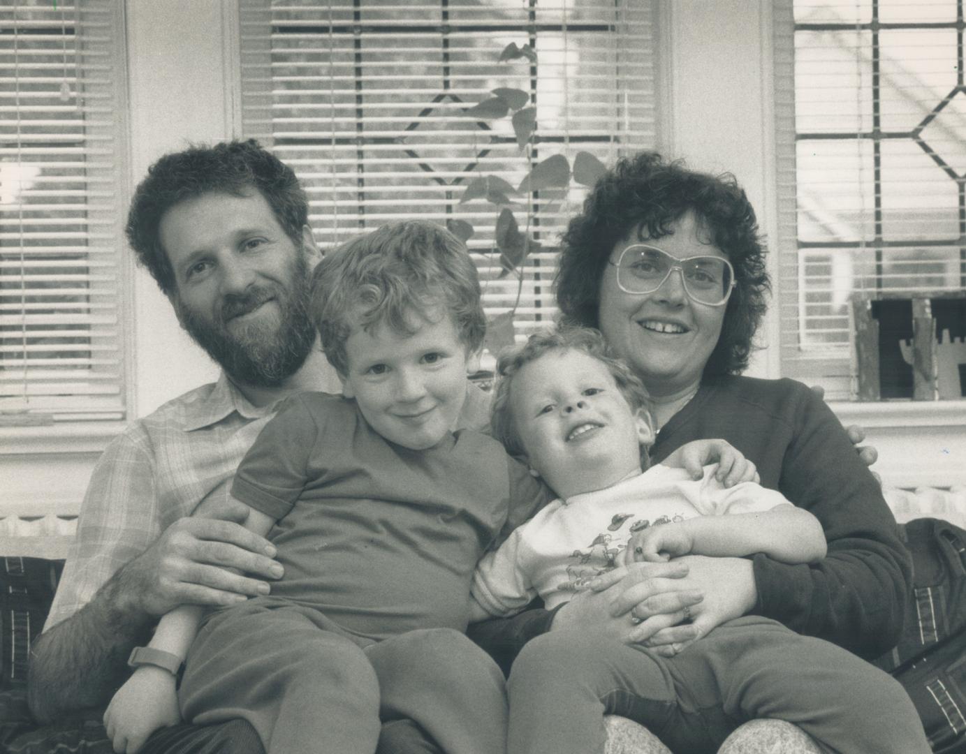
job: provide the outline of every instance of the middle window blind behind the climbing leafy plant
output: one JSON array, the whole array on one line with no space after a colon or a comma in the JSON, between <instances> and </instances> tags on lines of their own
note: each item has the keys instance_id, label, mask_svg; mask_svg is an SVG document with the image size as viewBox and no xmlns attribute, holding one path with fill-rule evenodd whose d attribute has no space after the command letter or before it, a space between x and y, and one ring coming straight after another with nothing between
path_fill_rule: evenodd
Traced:
<instances>
[{"instance_id":1,"label":"middle window blind behind the climbing leafy plant","mask_svg":"<svg viewBox=\"0 0 966 754\"><path fill-rule=\"evenodd\" d=\"M391 220L469 223L488 314L512 311L523 338L554 318L557 237L585 188L508 191L539 243L522 280L496 251L501 208L462 200L554 155L653 147L653 21L644 0L241 0L243 131L295 168L323 247ZM511 43L535 54L499 62ZM535 108L524 152L509 114L467 114L500 88Z\"/></svg>"}]
</instances>

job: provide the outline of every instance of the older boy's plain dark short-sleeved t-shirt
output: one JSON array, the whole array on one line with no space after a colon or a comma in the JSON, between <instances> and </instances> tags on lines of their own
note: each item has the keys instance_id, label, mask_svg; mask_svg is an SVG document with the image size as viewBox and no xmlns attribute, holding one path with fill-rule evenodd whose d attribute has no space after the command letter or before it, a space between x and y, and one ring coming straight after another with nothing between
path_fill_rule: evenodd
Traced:
<instances>
[{"instance_id":1,"label":"older boy's plain dark short-sleeved t-shirt","mask_svg":"<svg viewBox=\"0 0 966 754\"><path fill-rule=\"evenodd\" d=\"M492 437L461 431L413 451L325 393L286 401L232 494L278 519L268 537L285 577L265 600L314 607L372 639L464 630L476 562L552 497Z\"/></svg>"}]
</instances>

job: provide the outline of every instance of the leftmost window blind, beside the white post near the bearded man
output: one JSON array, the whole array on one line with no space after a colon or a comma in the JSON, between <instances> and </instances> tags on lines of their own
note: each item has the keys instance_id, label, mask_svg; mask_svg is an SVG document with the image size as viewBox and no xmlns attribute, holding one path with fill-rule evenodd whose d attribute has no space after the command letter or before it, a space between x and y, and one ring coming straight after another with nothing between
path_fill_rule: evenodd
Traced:
<instances>
[{"instance_id":1,"label":"leftmost window blind, beside the white post near the bearded man","mask_svg":"<svg viewBox=\"0 0 966 754\"><path fill-rule=\"evenodd\" d=\"M117 419L122 4L0 5L0 422Z\"/></svg>"}]
</instances>

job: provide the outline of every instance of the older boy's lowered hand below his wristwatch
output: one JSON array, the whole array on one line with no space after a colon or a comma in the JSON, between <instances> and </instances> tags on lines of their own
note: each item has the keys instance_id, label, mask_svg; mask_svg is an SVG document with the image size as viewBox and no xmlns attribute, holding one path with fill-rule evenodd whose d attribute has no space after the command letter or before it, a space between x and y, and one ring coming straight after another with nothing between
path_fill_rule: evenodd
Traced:
<instances>
[{"instance_id":1,"label":"older boy's lowered hand below his wristwatch","mask_svg":"<svg viewBox=\"0 0 966 754\"><path fill-rule=\"evenodd\" d=\"M135 754L158 728L179 722L175 677L151 665L135 670L104 712L104 728L117 754Z\"/></svg>"}]
</instances>

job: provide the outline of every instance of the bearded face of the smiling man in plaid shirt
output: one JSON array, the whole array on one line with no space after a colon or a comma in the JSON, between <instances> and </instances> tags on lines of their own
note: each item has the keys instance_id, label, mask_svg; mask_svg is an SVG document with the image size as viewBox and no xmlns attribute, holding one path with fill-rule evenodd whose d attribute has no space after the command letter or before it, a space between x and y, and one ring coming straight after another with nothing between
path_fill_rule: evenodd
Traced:
<instances>
[{"instance_id":1,"label":"bearded face of the smiling man in plaid shirt","mask_svg":"<svg viewBox=\"0 0 966 754\"><path fill-rule=\"evenodd\" d=\"M207 193L168 209L158 236L175 275L171 302L188 334L229 375L273 387L315 344L305 229L297 246L256 190Z\"/></svg>"}]
</instances>

